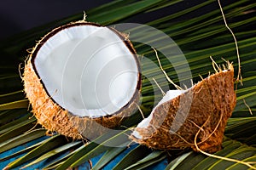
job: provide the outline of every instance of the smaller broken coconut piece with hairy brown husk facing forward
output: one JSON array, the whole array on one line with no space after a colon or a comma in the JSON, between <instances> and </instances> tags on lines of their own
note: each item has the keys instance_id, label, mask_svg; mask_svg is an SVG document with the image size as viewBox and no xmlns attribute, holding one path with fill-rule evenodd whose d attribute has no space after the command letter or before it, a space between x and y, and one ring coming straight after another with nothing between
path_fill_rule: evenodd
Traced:
<instances>
[{"instance_id":1,"label":"smaller broken coconut piece with hairy brown husk facing forward","mask_svg":"<svg viewBox=\"0 0 256 170\"><path fill-rule=\"evenodd\" d=\"M196 144L201 150L220 150L224 127L236 106L233 77L229 64L228 70L218 71L192 88L167 92L150 116L137 125L131 139L158 150L196 150L194 140L199 132ZM176 116L183 118L178 121ZM173 130L175 126L179 128Z\"/></svg>"}]
</instances>

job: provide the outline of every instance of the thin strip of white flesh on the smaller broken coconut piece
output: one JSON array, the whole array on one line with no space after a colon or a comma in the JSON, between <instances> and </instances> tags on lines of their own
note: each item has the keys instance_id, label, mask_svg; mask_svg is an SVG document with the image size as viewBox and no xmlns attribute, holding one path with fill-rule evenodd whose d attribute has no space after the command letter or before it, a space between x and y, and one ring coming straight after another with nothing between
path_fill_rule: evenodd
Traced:
<instances>
[{"instance_id":1,"label":"thin strip of white flesh on the smaller broken coconut piece","mask_svg":"<svg viewBox=\"0 0 256 170\"><path fill-rule=\"evenodd\" d=\"M162 105L163 103L171 100L171 99L174 99L176 98L177 96L179 96L180 94L183 94L185 93L187 90L169 90L166 92L166 95L163 97L163 99L160 100L160 102L154 107L153 111L151 111L150 115L143 119L142 122L138 123L137 124L137 127L141 127L141 128L147 128L149 126L149 122L152 120L152 117L153 117L153 114L154 114L154 111L155 109ZM133 133L131 134L133 135L135 138L137 139L142 139L142 136L135 130L133 131Z\"/></svg>"}]
</instances>

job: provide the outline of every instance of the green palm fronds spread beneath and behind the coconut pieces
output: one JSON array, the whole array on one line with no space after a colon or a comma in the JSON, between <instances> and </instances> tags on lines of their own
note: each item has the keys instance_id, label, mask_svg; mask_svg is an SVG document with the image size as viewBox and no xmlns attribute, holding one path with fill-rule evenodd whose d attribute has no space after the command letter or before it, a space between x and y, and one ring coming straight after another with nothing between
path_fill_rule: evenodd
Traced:
<instances>
[{"instance_id":1,"label":"green palm fronds spread beneath and behind the coconut pieces","mask_svg":"<svg viewBox=\"0 0 256 170\"><path fill-rule=\"evenodd\" d=\"M209 71L214 72L210 56L219 65L225 63L222 58L233 62L237 75L235 42L230 31L224 26L219 8L212 8L205 14L201 12L208 5L218 7L218 2L209 0L176 13L171 11L168 14L161 14L161 10L175 8L175 5L181 3L183 3L181 0L171 2L167 0L115 0L90 9L86 11L86 14L87 20L91 22L113 26L118 23L132 22L138 16L155 14L154 20L148 20L148 23L143 24L165 32L177 42L189 63L194 82L201 80L201 77L207 77ZM239 45L243 86L240 83L236 84L236 109L225 129L223 150L218 151L215 155L242 161L256 161L256 134L254 133L256 128L255 8L256 3L252 0L237 1L224 6L226 20L235 32ZM90 166L88 162L91 161L93 169L102 167L106 169L149 169L153 167L155 169L247 169L245 165L219 160L190 150L150 150L136 144L130 147L122 145L117 148L106 146L107 143L121 145L124 141L120 139L128 138L126 133L130 131L129 128L121 133L105 134L87 144L67 139L55 133L52 133L51 137L46 137L46 130L40 127L32 113L27 111L29 105L22 91L19 64L26 59L28 54L26 49L32 48L45 33L56 26L82 20L82 18L83 14L75 14L63 20L21 32L19 35L0 42L0 165L9 168L66 169L80 165ZM139 30L139 27L134 29ZM157 42L163 37L148 34L138 38ZM147 56L158 65L151 47L139 42L134 42L134 46L138 54ZM166 45L160 48L165 49L170 46ZM173 82L179 83L177 70L174 70L173 65L163 54L159 55L168 76L172 78ZM173 56L173 59L178 57ZM149 62L143 61L143 57L141 62L143 75L147 76L143 79L141 109L144 115L148 116L154 106L154 100L161 98L161 94L154 95L154 90L159 89L150 82L150 78L154 77L160 87L173 87L166 82L166 77L161 74L159 68L152 67ZM176 64L183 65L184 63L177 62ZM181 69L179 72L184 72L184 70ZM184 80L186 78L184 77ZM252 114L248 110L248 106ZM134 127L142 120L141 114L136 113L129 117L123 126ZM157 167L160 164L163 165L163 162L168 165ZM252 165L256 167L256 164Z\"/></svg>"}]
</instances>

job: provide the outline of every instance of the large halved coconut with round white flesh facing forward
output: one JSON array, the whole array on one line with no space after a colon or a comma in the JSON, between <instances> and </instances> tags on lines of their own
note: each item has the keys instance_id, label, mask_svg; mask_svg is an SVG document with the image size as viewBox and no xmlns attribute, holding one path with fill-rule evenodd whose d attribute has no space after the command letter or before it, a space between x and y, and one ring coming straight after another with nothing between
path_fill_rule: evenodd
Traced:
<instances>
[{"instance_id":1,"label":"large halved coconut with round white flesh facing forward","mask_svg":"<svg viewBox=\"0 0 256 170\"><path fill-rule=\"evenodd\" d=\"M93 139L137 108L141 74L131 42L119 31L85 21L50 31L24 71L38 123L74 139Z\"/></svg>"}]
</instances>

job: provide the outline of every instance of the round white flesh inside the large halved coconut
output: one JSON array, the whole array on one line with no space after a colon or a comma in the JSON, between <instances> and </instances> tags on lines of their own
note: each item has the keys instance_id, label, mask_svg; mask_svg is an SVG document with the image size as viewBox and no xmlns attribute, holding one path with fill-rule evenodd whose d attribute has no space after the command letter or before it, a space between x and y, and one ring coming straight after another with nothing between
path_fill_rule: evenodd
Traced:
<instances>
[{"instance_id":1,"label":"round white flesh inside the large halved coconut","mask_svg":"<svg viewBox=\"0 0 256 170\"><path fill-rule=\"evenodd\" d=\"M112 115L137 93L137 58L108 27L82 25L58 31L39 48L33 62L49 96L76 116Z\"/></svg>"}]
</instances>

